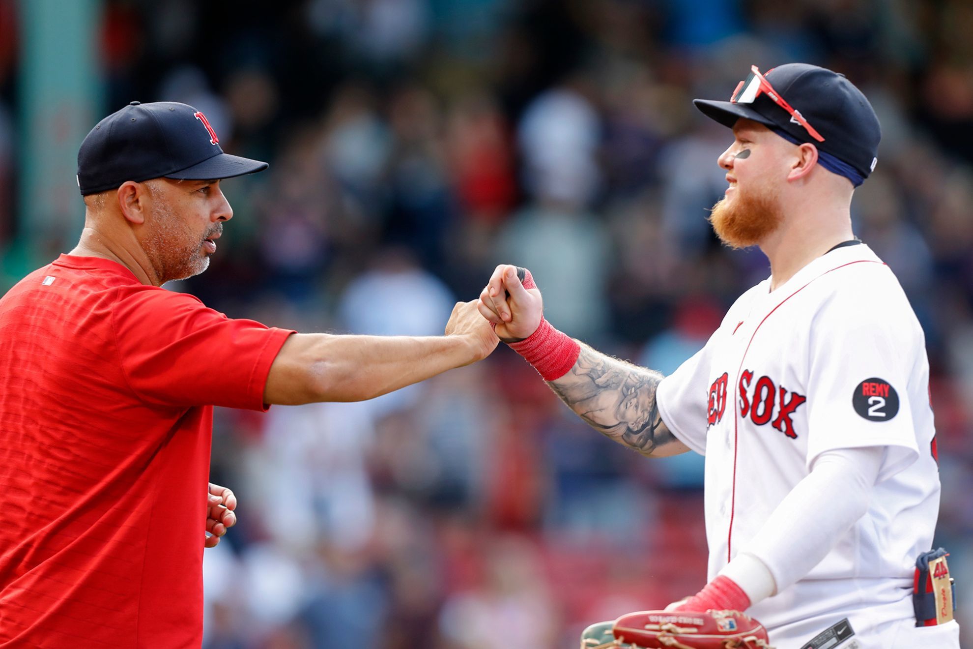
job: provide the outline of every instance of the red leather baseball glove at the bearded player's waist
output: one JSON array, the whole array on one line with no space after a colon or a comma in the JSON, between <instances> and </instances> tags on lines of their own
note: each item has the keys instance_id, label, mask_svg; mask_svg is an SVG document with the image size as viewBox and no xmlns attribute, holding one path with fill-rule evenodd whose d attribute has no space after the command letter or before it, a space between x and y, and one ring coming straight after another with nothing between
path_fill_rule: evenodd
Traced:
<instances>
[{"instance_id":1,"label":"red leather baseball glove at the bearded player's waist","mask_svg":"<svg viewBox=\"0 0 973 649\"><path fill-rule=\"evenodd\" d=\"M773 649L764 625L739 611L638 611L615 620L612 635L632 648Z\"/></svg>"}]
</instances>

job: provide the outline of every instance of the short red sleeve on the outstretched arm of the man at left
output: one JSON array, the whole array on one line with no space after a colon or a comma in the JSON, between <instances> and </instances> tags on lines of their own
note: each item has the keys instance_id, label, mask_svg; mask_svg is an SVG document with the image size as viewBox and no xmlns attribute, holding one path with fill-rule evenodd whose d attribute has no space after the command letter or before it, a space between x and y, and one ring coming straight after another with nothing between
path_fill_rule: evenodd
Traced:
<instances>
[{"instance_id":1,"label":"short red sleeve on the outstretched arm of the man at left","mask_svg":"<svg viewBox=\"0 0 973 649\"><path fill-rule=\"evenodd\" d=\"M154 286L120 289L113 320L129 387L145 402L175 407L266 410L270 365L294 333Z\"/></svg>"}]
</instances>

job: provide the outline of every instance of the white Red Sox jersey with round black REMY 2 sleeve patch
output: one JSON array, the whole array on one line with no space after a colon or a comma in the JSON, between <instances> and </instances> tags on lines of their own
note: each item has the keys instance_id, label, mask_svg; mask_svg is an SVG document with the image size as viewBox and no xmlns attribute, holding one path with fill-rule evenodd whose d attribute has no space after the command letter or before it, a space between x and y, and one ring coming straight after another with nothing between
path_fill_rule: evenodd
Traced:
<instances>
[{"instance_id":1,"label":"white Red Sox jersey with round black REMY 2 sleeve patch","mask_svg":"<svg viewBox=\"0 0 973 649\"><path fill-rule=\"evenodd\" d=\"M885 450L868 513L807 576L748 610L779 649L801 649L845 618L861 647L895 646L896 629L915 625L915 564L931 548L940 494L928 390L919 321L864 244L833 249L774 291L767 279L744 293L660 384L669 430L706 458L710 580L819 454Z\"/></svg>"}]
</instances>

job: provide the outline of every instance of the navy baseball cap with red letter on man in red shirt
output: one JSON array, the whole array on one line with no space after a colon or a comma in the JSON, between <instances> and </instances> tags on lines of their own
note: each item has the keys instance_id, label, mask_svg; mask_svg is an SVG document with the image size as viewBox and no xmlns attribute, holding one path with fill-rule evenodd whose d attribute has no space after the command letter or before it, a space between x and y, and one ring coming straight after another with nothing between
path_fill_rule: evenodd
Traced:
<instances>
[{"instance_id":1,"label":"navy baseball cap with red letter on man in red shirt","mask_svg":"<svg viewBox=\"0 0 973 649\"><path fill-rule=\"evenodd\" d=\"M82 196L152 178L216 180L263 171L267 162L223 153L206 116L174 101L132 101L91 128L78 150Z\"/></svg>"}]
</instances>

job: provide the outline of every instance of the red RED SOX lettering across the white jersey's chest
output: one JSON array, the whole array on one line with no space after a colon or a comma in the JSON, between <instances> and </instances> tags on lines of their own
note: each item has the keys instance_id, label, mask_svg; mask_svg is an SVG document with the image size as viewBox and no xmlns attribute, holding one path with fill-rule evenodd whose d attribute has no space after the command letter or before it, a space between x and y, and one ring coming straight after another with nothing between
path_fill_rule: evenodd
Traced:
<instances>
[{"instance_id":1,"label":"red RED SOX lettering across the white jersey's chest","mask_svg":"<svg viewBox=\"0 0 973 649\"><path fill-rule=\"evenodd\" d=\"M707 424L719 423L726 410L727 374L723 373L709 387L709 407ZM739 375L739 415L758 426L770 423L791 439L797 439L791 415L808 400L803 394L788 390L775 383L770 377L754 380L753 371L743 370ZM775 416L776 411L776 416Z\"/></svg>"}]
</instances>

